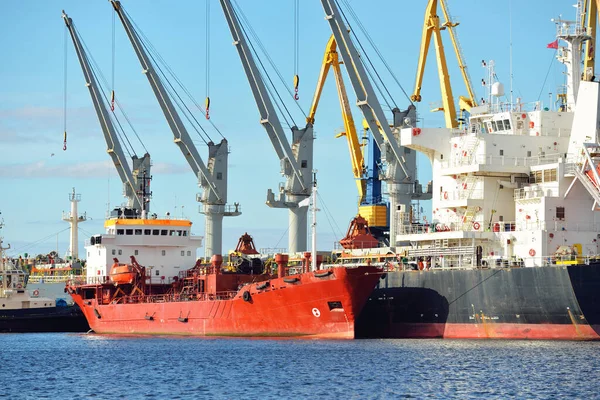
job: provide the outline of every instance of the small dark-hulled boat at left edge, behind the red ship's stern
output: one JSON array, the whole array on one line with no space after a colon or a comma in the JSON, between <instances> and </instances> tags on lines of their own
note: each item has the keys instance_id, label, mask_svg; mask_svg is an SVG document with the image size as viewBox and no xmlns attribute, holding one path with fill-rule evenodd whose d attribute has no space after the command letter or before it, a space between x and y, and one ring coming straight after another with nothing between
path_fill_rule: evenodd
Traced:
<instances>
[{"instance_id":1,"label":"small dark-hulled boat at left edge, behind the red ship's stern","mask_svg":"<svg viewBox=\"0 0 600 400\"><path fill-rule=\"evenodd\" d=\"M0 221L0 229L4 223ZM27 291L28 275L19 260L6 256L0 236L0 332L86 332L89 326L77 305Z\"/></svg>"}]
</instances>

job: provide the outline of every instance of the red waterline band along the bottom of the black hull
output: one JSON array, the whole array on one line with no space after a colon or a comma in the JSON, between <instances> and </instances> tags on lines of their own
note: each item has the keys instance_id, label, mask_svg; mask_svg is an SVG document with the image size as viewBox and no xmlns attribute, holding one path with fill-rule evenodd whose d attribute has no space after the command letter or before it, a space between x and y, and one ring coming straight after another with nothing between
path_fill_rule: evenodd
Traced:
<instances>
[{"instance_id":1,"label":"red waterline band along the bottom of the black hull","mask_svg":"<svg viewBox=\"0 0 600 400\"><path fill-rule=\"evenodd\" d=\"M598 340L587 324L426 323L402 324L396 338Z\"/></svg>"}]
</instances>

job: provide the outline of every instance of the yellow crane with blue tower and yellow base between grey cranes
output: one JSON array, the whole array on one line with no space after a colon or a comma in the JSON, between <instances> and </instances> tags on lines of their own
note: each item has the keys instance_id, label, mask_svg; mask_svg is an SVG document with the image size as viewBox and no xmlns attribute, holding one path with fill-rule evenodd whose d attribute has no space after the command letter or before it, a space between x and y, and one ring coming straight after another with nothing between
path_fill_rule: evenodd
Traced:
<instances>
[{"instance_id":1,"label":"yellow crane with blue tower and yellow base between grey cranes","mask_svg":"<svg viewBox=\"0 0 600 400\"><path fill-rule=\"evenodd\" d=\"M384 232L388 230L388 222L387 204L385 204L381 197L381 180L379 179L379 169L377 166L377 163L380 162L381 153L375 144L372 135L369 133L367 145L370 152L368 157L369 165L366 165L365 157L363 155L365 143L361 143L354 125L350 101L348 100L346 85L344 84L344 78L340 67L340 64L342 63L343 62L339 59L339 54L337 52L335 37L332 35L325 46L325 55L323 57L323 63L321 64L321 72L319 73L317 87L306 121L310 124L314 124L315 115L317 113L319 100L327 75L330 70L333 70L345 129L345 131L337 137L345 136L348 142L352 172L358 189L358 213L366 219L375 237L383 238Z\"/></svg>"}]
</instances>

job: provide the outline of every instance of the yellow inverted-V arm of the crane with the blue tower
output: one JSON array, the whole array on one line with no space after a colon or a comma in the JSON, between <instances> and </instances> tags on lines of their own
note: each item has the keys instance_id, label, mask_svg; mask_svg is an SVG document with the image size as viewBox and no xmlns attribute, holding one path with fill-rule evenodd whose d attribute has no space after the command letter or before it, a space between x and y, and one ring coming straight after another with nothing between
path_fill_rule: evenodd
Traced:
<instances>
[{"instance_id":1,"label":"yellow inverted-V arm of the crane with the blue tower","mask_svg":"<svg viewBox=\"0 0 600 400\"><path fill-rule=\"evenodd\" d=\"M356 133L356 127L354 126L354 118L352 117L352 111L350 109L350 102L348 101L348 94L346 93L346 86L342 77L342 70L340 68L341 61L336 50L336 42L333 35L329 38L327 46L325 48L325 56L323 57L323 64L321 65L321 73L317 81L317 87L313 96L313 101L310 107L306 122L314 124L315 114L327 79L327 74L331 67L333 67L333 75L335 77L335 83L338 91L338 98L340 101L340 108L342 110L342 119L344 120L345 132L339 134L337 137L346 136L348 142L348 149L350 151L350 159L352 162L352 172L354 178L356 178L356 186L358 189L359 204L364 200L366 195L366 181L362 179L364 176L364 157Z\"/></svg>"}]
</instances>

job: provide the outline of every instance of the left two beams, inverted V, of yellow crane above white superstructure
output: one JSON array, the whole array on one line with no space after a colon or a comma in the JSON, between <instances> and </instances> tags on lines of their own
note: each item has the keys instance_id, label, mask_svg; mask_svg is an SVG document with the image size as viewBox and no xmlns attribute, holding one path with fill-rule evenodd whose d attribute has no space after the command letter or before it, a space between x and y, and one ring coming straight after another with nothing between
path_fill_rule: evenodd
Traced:
<instances>
[{"instance_id":1,"label":"left two beams, inverted V, of yellow crane above white superstructure","mask_svg":"<svg viewBox=\"0 0 600 400\"><path fill-rule=\"evenodd\" d=\"M423 35L421 37L417 77L415 81L415 90L411 96L411 100L417 102L421 101L421 84L423 82L425 62L427 60L431 37L433 36L443 105L442 109L435 111L443 110L446 127L456 128L458 126L456 106L454 105L454 96L452 95L452 87L450 86L450 76L448 75L448 65L446 64L446 54L444 53L444 44L442 43L441 35L441 31L444 29L446 29L446 27L440 26L440 18L437 15L437 0L429 0L425 9L425 22L423 23Z\"/></svg>"}]
</instances>

